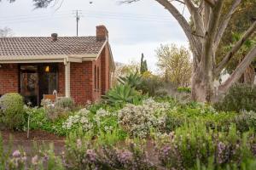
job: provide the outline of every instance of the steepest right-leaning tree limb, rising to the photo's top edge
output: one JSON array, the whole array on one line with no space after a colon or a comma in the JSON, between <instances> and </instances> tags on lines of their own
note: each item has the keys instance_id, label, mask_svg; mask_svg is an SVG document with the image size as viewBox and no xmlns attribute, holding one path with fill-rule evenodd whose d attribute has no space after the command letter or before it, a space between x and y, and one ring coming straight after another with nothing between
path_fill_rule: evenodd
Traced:
<instances>
[{"instance_id":1,"label":"steepest right-leaning tree limb, rising to the photo's top edge","mask_svg":"<svg viewBox=\"0 0 256 170\"><path fill-rule=\"evenodd\" d=\"M221 41L221 38L224 35L224 31L226 30L227 26L229 25L232 14L234 14L236 12L236 8L239 6L240 3L241 3L241 0L234 0L232 3L232 6L230 8L230 11L228 12L228 14L226 14L224 16L224 20L222 20L222 22L220 23L219 28L218 28L218 33L215 38L215 47L216 48L218 48L219 42Z\"/></svg>"}]
</instances>

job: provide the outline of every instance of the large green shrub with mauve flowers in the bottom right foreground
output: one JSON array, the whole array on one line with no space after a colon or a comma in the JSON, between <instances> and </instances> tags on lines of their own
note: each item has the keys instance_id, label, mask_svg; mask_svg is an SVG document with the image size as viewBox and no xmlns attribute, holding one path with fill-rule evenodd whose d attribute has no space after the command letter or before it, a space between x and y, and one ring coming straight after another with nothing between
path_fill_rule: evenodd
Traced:
<instances>
[{"instance_id":1,"label":"large green shrub with mauve flowers in the bottom right foreground","mask_svg":"<svg viewBox=\"0 0 256 170\"><path fill-rule=\"evenodd\" d=\"M197 161L207 167L212 165L212 169L222 169L231 164L236 164L239 169L242 163L255 159L253 132L237 133L234 125L229 132L218 132L196 122L158 139L159 159L161 165L168 169L189 169L195 167Z\"/></svg>"}]
</instances>

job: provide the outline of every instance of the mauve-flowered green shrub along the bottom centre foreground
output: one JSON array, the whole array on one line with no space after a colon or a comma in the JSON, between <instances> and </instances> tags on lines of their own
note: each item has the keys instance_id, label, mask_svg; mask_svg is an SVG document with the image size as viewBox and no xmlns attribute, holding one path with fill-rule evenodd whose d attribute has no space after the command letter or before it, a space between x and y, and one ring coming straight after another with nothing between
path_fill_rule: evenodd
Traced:
<instances>
[{"instance_id":1,"label":"mauve-flowered green shrub along the bottom centre foreground","mask_svg":"<svg viewBox=\"0 0 256 170\"><path fill-rule=\"evenodd\" d=\"M116 144L90 142L90 135L79 138L70 134L66 143L67 169L156 169L149 161L144 144L126 143L119 149Z\"/></svg>"}]
</instances>

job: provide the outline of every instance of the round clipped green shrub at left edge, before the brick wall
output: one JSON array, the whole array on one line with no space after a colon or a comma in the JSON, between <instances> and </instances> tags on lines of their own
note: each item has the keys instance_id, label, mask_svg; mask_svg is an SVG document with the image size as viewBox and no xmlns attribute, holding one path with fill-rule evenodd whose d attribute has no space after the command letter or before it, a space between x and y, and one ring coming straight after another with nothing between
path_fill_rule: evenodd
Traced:
<instances>
[{"instance_id":1,"label":"round clipped green shrub at left edge, before the brick wall","mask_svg":"<svg viewBox=\"0 0 256 170\"><path fill-rule=\"evenodd\" d=\"M0 98L0 122L5 128L17 130L25 121L24 101L20 94L4 94Z\"/></svg>"}]
</instances>

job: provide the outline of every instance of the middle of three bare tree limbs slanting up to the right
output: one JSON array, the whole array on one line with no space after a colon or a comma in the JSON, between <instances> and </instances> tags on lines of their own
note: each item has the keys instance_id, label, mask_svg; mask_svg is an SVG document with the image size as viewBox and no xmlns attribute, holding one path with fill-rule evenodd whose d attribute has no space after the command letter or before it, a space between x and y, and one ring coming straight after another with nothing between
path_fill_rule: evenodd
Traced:
<instances>
[{"instance_id":1,"label":"middle of three bare tree limbs slanting up to the right","mask_svg":"<svg viewBox=\"0 0 256 170\"><path fill-rule=\"evenodd\" d=\"M236 42L236 45L230 50L230 53L226 54L224 59L218 64L214 71L214 75L218 76L218 74L223 71L224 67L229 63L230 59L236 54L236 52L241 48L244 42L246 42L247 38L253 35L253 32L256 30L256 21L253 22L253 25L248 28L248 30L244 33L241 39Z\"/></svg>"}]
</instances>

